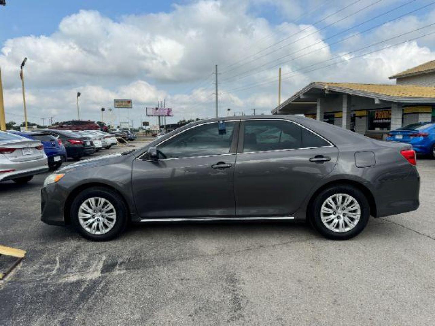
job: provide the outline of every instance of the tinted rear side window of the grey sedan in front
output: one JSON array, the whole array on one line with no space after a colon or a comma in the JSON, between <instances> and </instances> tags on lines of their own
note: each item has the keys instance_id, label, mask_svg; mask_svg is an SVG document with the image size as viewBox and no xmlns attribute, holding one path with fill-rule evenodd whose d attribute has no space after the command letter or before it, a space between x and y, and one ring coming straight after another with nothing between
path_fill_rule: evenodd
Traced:
<instances>
[{"instance_id":1,"label":"tinted rear side window of the grey sedan in front","mask_svg":"<svg viewBox=\"0 0 435 326\"><path fill-rule=\"evenodd\" d=\"M257 120L244 123L244 153L328 145L321 137L290 121Z\"/></svg>"}]
</instances>

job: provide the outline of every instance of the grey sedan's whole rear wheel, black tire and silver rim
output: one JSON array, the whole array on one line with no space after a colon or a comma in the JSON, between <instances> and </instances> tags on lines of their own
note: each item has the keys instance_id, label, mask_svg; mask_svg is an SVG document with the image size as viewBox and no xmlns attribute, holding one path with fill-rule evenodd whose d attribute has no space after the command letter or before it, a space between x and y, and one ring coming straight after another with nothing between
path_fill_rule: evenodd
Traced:
<instances>
[{"instance_id":1,"label":"grey sedan's whole rear wheel, black tire and silver rim","mask_svg":"<svg viewBox=\"0 0 435 326\"><path fill-rule=\"evenodd\" d=\"M368 200L353 186L331 186L315 198L310 222L323 236L347 240L364 230L370 216Z\"/></svg>"}]
</instances>

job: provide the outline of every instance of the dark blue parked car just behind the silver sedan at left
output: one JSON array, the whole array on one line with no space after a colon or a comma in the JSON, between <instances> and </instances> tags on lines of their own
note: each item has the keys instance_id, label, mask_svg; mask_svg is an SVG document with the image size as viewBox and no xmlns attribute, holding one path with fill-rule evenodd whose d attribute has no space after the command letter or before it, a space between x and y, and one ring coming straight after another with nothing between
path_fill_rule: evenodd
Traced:
<instances>
[{"instance_id":1,"label":"dark blue parked car just behind the silver sedan at left","mask_svg":"<svg viewBox=\"0 0 435 326\"><path fill-rule=\"evenodd\" d=\"M44 146L44 152L47 155L48 166L50 170L57 170L62 162L67 160L67 150L60 139L52 136L50 133L20 132L10 130L8 133L23 136L31 140L40 140Z\"/></svg>"}]
</instances>

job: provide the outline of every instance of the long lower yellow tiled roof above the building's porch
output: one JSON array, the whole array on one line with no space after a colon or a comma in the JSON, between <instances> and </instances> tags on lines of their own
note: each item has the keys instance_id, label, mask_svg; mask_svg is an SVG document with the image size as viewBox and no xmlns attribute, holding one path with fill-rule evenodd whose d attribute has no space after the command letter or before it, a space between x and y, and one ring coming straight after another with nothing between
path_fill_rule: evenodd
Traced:
<instances>
[{"instance_id":1,"label":"long lower yellow tiled roof above the building's porch","mask_svg":"<svg viewBox=\"0 0 435 326\"><path fill-rule=\"evenodd\" d=\"M394 97L424 97L435 98L435 87L414 85L383 85L383 84L356 84L356 83L325 83L318 82L323 86L339 87L344 90L356 90L366 93L374 93Z\"/></svg>"}]
</instances>

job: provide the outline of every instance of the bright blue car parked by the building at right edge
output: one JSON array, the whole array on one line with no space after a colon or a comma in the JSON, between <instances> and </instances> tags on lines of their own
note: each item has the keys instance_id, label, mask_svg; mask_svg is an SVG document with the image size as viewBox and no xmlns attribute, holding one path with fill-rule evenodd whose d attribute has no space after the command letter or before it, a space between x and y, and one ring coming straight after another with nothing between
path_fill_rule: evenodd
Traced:
<instances>
[{"instance_id":1,"label":"bright blue car parked by the building at right edge","mask_svg":"<svg viewBox=\"0 0 435 326\"><path fill-rule=\"evenodd\" d=\"M420 122L390 131L386 140L408 143L417 154L430 155L435 159L435 123Z\"/></svg>"}]
</instances>

